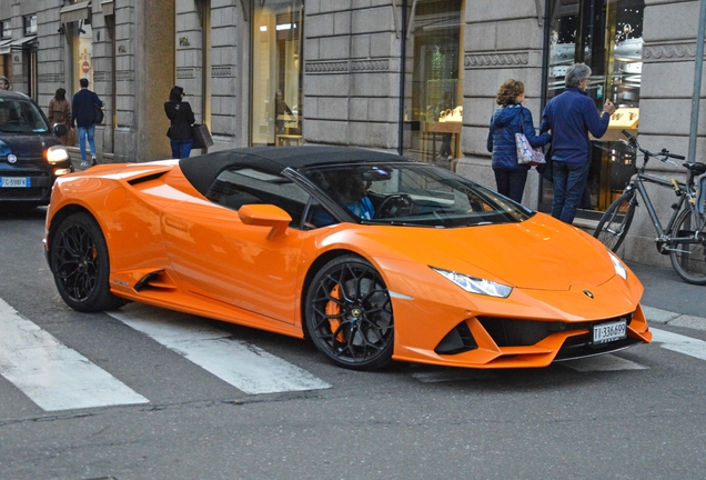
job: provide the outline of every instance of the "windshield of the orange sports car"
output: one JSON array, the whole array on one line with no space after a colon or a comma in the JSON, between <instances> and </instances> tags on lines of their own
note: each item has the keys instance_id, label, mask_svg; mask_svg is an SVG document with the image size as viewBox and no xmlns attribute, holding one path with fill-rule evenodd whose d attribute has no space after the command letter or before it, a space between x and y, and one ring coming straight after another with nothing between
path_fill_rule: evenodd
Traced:
<instances>
[{"instance_id":1,"label":"windshield of the orange sports car","mask_svg":"<svg viewBox=\"0 0 706 480\"><path fill-rule=\"evenodd\" d=\"M362 222L445 228L515 223L534 214L493 190L421 162L340 164L300 172Z\"/></svg>"}]
</instances>

